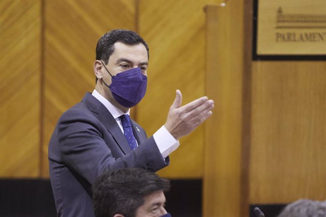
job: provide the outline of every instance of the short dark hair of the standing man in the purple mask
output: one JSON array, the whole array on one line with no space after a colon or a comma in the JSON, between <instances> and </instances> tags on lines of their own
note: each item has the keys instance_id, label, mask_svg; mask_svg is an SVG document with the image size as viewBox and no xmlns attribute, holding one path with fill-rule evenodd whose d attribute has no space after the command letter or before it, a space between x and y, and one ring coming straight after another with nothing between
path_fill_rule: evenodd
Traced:
<instances>
[{"instance_id":1,"label":"short dark hair of the standing man in the purple mask","mask_svg":"<svg viewBox=\"0 0 326 217\"><path fill-rule=\"evenodd\" d=\"M110 32L105 33L98 41L96 45L96 59L103 60L105 64L108 63L108 59L114 52L114 44L116 42L122 42L127 45L136 45L142 43L149 58L149 48L147 43L137 33L128 29L113 29Z\"/></svg>"}]
</instances>

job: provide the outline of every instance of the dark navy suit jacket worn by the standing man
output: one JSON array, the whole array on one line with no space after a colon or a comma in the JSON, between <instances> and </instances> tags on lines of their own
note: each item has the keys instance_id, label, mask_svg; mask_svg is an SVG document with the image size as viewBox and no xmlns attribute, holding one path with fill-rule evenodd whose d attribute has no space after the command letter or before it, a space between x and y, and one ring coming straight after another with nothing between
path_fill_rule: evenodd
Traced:
<instances>
[{"instance_id":1,"label":"dark navy suit jacket worn by the standing man","mask_svg":"<svg viewBox=\"0 0 326 217\"><path fill-rule=\"evenodd\" d=\"M139 146L131 150L106 107L90 93L59 119L48 149L50 180L58 216L94 216L91 186L105 170L169 164L153 137L132 120Z\"/></svg>"}]
</instances>

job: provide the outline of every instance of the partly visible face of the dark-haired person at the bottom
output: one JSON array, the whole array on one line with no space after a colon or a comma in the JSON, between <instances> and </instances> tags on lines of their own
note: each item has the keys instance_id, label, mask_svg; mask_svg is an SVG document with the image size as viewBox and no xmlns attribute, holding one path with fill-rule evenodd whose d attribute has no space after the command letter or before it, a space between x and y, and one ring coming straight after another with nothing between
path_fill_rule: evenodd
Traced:
<instances>
[{"instance_id":1,"label":"partly visible face of the dark-haired person at the bottom","mask_svg":"<svg viewBox=\"0 0 326 217\"><path fill-rule=\"evenodd\" d=\"M136 217L159 217L167 213L165 210L163 191L157 191L144 198L144 204L136 210Z\"/></svg>"}]
</instances>

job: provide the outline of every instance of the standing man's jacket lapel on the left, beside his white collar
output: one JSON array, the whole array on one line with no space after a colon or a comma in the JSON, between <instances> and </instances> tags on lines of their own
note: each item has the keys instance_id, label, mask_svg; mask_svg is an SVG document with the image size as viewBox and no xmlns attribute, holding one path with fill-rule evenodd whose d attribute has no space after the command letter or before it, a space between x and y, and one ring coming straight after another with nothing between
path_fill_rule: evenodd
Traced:
<instances>
[{"instance_id":1,"label":"standing man's jacket lapel on the left, beside his white collar","mask_svg":"<svg viewBox=\"0 0 326 217\"><path fill-rule=\"evenodd\" d=\"M86 94L83 101L89 105L92 112L98 114L99 121L101 121L106 130L111 133L124 154L131 152L130 146L118 126L116 119L113 118L112 114L105 108L105 106L90 93Z\"/></svg>"}]
</instances>

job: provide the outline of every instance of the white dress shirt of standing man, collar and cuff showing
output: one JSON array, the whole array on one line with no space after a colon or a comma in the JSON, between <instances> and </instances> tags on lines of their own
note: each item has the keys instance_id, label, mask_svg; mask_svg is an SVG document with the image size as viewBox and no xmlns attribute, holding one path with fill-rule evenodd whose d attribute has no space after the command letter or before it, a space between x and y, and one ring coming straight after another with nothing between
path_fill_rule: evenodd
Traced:
<instances>
[{"instance_id":1,"label":"white dress shirt of standing man, collar and cuff showing","mask_svg":"<svg viewBox=\"0 0 326 217\"><path fill-rule=\"evenodd\" d=\"M100 95L99 92L95 89L93 90L92 95L107 108L107 110L116 119L121 131L123 132L121 120L119 117L123 114L129 115L130 109L124 113L119 108L110 103L107 99L105 99L102 95ZM158 131L154 133L153 137L163 158L168 157L169 154L177 149L180 145L179 141L176 140L164 126L158 129Z\"/></svg>"}]
</instances>

